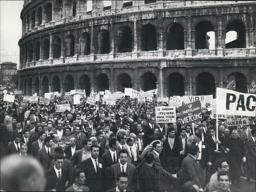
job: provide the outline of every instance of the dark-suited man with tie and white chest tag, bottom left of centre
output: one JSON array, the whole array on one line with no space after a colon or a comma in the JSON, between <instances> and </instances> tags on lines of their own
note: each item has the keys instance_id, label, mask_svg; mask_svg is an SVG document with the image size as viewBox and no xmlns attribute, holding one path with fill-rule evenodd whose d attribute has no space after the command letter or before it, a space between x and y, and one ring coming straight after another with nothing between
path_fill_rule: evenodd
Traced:
<instances>
[{"instance_id":1,"label":"dark-suited man with tie and white chest tag, bottom left of centre","mask_svg":"<svg viewBox=\"0 0 256 192\"><path fill-rule=\"evenodd\" d=\"M92 145L90 147L91 157L82 161L87 186L91 191L104 191L105 184L105 162L99 159L99 146Z\"/></svg>"}]
</instances>

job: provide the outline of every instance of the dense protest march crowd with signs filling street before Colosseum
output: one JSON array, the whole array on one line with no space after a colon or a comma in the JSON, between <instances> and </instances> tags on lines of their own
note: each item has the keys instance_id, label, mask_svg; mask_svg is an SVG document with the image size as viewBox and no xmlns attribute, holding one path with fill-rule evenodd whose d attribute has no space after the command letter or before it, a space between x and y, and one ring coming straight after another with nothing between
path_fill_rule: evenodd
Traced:
<instances>
[{"instance_id":1,"label":"dense protest march crowd with signs filling street before Colosseum","mask_svg":"<svg viewBox=\"0 0 256 192\"><path fill-rule=\"evenodd\" d=\"M212 95L74 91L1 95L1 190L161 191L167 181L212 192L255 181L253 94L239 93L247 99L225 113ZM241 97L226 98L228 111Z\"/></svg>"}]
</instances>

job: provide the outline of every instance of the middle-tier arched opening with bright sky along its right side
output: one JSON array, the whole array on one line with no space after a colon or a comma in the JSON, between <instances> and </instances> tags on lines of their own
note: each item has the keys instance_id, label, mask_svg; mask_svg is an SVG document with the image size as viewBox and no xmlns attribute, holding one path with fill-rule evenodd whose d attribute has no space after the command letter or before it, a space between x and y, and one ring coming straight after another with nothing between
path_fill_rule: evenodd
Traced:
<instances>
[{"instance_id":1,"label":"middle-tier arched opening with bright sky along its right side","mask_svg":"<svg viewBox=\"0 0 256 192\"><path fill-rule=\"evenodd\" d=\"M209 49L210 37L207 35L208 32L214 32L214 26L209 21L200 21L195 27L195 48L196 49ZM211 37L215 39L215 36ZM210 41L212 42L212 41ZM215 41L213 41L215 43Z\"/></svg>"}]
</instances>

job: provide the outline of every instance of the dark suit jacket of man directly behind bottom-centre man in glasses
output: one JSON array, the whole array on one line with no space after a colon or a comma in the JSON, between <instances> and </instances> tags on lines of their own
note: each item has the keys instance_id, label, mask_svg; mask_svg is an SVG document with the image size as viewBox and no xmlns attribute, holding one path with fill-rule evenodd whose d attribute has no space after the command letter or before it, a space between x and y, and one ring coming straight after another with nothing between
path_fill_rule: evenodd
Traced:
<instances>
[{"instance_id":1,"label":"dark suit jacket of man directly behind bottom-centre man in glasses","mask_svg":"<svg viewBox=\"0 0 256 192\"><path fill-rule=\"evenodd\" d=\"M110 176L110 184L112 184L112 187L116 187L115 184L115 177L119 172L121 172L120 163L116 163L111 166L111 169L109 169L108 175ZM131 164L127 162L125 173L128 175L128 186L127 188L134 189L136 179L137 179L137 170L136 168Z\"/></svg>"}]
</instances>

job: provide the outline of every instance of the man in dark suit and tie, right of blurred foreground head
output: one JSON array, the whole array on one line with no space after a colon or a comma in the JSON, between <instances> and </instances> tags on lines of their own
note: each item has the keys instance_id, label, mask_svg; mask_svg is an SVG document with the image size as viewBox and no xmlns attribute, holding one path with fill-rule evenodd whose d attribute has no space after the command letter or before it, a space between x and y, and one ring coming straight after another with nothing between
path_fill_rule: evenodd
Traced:
<instances>
[{"instance_id":1,"label":"man in dark suit and tie, right of blurred foreground head","mask_svg":"<svg viewBox=\"0 0 256 192\"><path fill-rule=\"evenodd\" d=\"M46 177L54 175L57 178L56 191L65 191L66 182L69 181L68 170L62 168L64 159L65 157L62 154L54 155L54 167L45 172Z\"/></svg>"}]
</instances>

